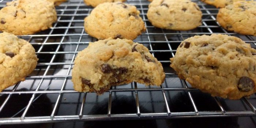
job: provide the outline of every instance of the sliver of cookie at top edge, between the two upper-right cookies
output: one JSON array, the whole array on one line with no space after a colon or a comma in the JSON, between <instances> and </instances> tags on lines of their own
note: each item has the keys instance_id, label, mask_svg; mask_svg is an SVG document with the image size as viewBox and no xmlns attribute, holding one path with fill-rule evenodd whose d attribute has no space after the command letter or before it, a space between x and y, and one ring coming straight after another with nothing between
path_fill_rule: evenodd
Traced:
<instances>
[{"instance_id":1,"label":"sliver of cookie at top edge, between the two upper-right cookies","mask_svg":"<svg viewBox=\"0 0 256 128\"><path fill-rule=\"evenodd\" d=\"M236 1L242 0L201 0L206 4L214 5L217 8L224 8L226 5L233 4Z\"/></svg>"}]
</instances>

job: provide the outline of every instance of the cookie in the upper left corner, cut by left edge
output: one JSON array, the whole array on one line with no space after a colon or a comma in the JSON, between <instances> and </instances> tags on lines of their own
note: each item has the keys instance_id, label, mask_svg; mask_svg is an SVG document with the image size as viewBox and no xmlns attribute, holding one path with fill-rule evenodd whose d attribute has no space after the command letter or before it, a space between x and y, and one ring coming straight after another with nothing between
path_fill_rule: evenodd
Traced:
<instances>
[{"instance_id":1,"label":"cookie in the upper left corner, cut by left edge","mask_svg":"<svg viewBox=\"0 0 256 128\"><path fill-rule=\"evenodd\" d=\"M53 3L46 0L15 0L0 10L0 31L29 35L52 27L57 20Z\"/></svg>"}]
</instances>

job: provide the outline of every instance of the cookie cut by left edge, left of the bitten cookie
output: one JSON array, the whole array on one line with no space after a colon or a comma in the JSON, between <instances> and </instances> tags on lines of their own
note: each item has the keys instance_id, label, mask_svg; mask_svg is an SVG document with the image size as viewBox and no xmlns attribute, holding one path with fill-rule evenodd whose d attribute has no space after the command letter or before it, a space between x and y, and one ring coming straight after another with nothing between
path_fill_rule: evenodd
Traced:
<instances>
[{"instance_id":1,"label":"cookie cut by left edge, left of the bitten cookie","mask_svg":"<svg viewBox=\"0 0 256 128\"><path fill-rule=\"evenodd\" d=\"M37 65L35 49L10 33L0 33L0 92L24 81Z\"/></svg>"}]
</instances>

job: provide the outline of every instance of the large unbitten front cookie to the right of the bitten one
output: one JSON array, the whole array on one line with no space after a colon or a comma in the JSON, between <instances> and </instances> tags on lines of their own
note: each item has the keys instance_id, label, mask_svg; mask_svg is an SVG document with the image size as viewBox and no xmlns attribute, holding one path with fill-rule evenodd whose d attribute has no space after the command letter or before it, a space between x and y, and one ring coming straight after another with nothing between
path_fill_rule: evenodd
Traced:
<instances>
[{"instance_id":1,"label":"large unbitten front cookie to the right of the bitten one","mask_svg":"<svg viewBox=\"0 0 256 128\"><path fill-rule=\"evenodd\" d=\"M170 60L179 78L212 96L240 99L256 92L256 50L240 38L196 35Z\"/></svg>"}]
</instances>

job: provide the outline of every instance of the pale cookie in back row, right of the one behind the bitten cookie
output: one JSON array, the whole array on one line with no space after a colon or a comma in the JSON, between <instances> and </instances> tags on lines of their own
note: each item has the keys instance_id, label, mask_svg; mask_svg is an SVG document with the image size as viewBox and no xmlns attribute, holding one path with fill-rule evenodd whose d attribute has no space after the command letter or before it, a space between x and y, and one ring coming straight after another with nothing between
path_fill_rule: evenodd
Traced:
<instances>
[{"instance_id":1,"label":"pale cookie in back row, right of the one behind the bitten cookie","mask_svg":"<svg viewBox=\"0 0 256 128\"><path fill-rule=\"evenodd\" d=\"M185 31L201 25L202 12L190 0L154 0L147 18L155 27Z\"/></svg>"}]
</instances>

